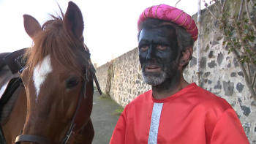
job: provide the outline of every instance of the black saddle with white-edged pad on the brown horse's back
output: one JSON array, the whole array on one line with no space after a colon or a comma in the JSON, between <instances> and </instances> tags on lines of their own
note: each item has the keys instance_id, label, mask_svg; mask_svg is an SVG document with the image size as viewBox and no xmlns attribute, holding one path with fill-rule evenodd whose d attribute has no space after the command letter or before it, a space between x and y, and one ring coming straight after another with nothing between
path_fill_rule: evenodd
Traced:
<instances>
[{"instance_id":1,"label":"black saddle with white-edged pad on the brown horse's back","mask_svg":"<svg viewBox=\"0 0 256 144\"><path fill-rule=\"evenodd\" d=\"M0 143L5 143L1 125L7 120L18 97L22 80L19 71L26 66L26 48L0 53Z\"/></svg>"}]
</instances>

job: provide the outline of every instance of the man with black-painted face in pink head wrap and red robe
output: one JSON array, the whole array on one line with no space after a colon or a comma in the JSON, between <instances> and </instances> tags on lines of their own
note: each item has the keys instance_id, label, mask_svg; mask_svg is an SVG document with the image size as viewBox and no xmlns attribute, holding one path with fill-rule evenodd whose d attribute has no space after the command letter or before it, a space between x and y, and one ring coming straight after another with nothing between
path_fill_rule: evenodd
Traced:
<instances>
[{"instance_id":1,"label":"man with black-painted face in pink head wrap and red robe","mask_svg":"<svg viewBox=\"0 0 256 144\"><path fill-rule=\"evenodd\" d=\"M198 34L190 15L165 4L149 7L138 31L143 80L152 90L124 108L110 144L249 144L225 99L184 80Z\"/></svg>"}]
</instances>

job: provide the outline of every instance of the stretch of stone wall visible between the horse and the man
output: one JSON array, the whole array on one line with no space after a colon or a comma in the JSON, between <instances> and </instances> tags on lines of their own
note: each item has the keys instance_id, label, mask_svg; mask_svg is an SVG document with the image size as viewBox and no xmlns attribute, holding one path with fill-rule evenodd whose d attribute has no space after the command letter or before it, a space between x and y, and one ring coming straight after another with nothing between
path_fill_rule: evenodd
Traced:
<instances>
[{"instance_id":1,"label":"stretch of stone wall visible between the horse and the man","mask_svg":"<svg viewBox=\"0 0 256 144\"><path fill-rule=\"evenodd\" d=\"M113 63L113 77L111 79L110 96L122 107L125 107L136 96L151 88L151 86L143 82L140 72L138 48L124 53L124 55L111 62ZM103 92L105 92L106 88L109 66L110 62L98 67L96 72Z\"/></svg>"}]
</instances>

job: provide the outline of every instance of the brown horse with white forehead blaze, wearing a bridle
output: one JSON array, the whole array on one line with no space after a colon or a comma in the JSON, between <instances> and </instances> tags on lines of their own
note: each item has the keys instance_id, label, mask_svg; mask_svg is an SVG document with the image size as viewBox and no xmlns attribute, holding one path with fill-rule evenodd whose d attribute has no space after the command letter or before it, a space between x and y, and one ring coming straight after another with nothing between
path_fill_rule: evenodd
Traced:
<instances>
[{"instance_id":1,"label":"brown horse with white forehead blaze, wearing a bridle","mask_svg":"<svg viewBox=\"0 0 256 144\"><path fill-rule=\"evenodd\" d=\"M82 13L69 1L65 14L50 17L41 27L35 18L23 15L34 44L26 51L23 87L1 126L7 144L93 140L90 115L96 77L83 42Z\"/></svg>"}]
</instances>

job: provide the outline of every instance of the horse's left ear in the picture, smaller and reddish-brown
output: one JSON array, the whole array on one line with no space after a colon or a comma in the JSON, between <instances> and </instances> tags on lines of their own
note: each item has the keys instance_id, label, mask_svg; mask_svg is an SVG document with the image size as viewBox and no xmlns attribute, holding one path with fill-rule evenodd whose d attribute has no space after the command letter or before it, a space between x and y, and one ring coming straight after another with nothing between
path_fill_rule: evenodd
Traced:
<instances>
[{"instance_id":1,"label":"horse's left ear in the picture, smaller and reddish-brown","mask_svg":"<svg viewBox=\"0 0 256 144\"><path fill-rule=\"evenodd\" d=\"M29 34L29 37L31 37L31 39L33 39L34 34L37 34L37 32L42 31L38 21L31 15L23 15L23 19L26 34Z\"/></svg>"}]
</instances>

